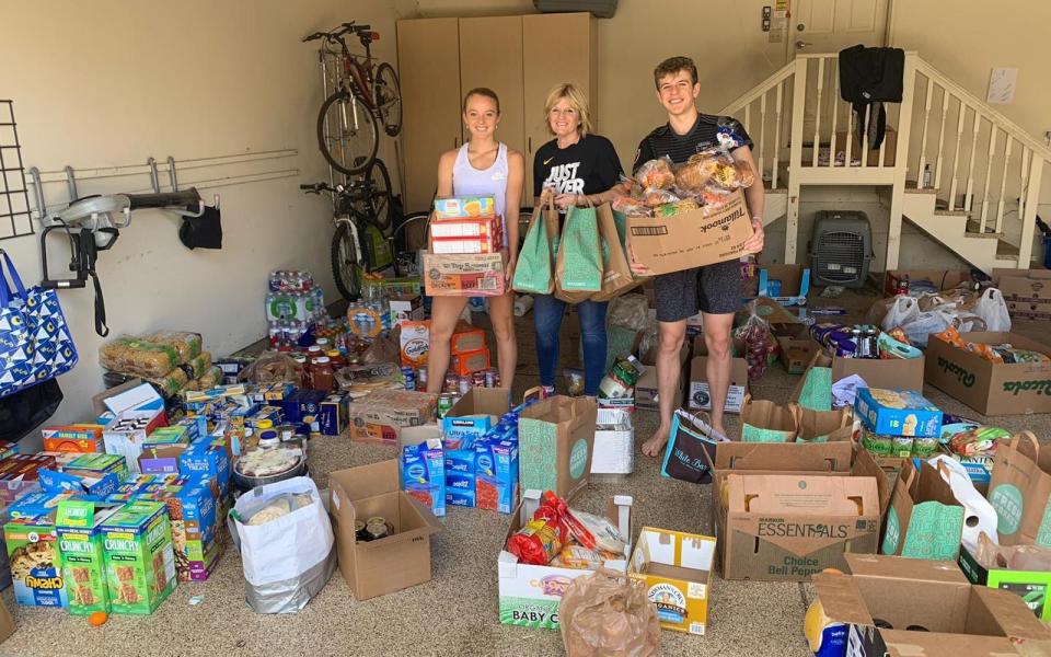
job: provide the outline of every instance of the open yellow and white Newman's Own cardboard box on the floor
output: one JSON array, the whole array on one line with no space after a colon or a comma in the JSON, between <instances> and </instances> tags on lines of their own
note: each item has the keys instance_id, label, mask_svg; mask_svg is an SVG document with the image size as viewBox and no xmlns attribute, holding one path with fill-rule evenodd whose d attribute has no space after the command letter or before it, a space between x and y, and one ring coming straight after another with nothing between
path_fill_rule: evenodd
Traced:
<instances>
[{"instance_id":1,"label":"open yellow and white Newman's Own cardboard box on the floor","mask_svg":"<svg viewBox=\"0 0 1051 657\"><path fill-rule=\"evenodd\" d=\"M650 527L638 532L627 576L646 585L665 630L704 634L715 548L712 537Z\"/></svg>"}]
</instances>

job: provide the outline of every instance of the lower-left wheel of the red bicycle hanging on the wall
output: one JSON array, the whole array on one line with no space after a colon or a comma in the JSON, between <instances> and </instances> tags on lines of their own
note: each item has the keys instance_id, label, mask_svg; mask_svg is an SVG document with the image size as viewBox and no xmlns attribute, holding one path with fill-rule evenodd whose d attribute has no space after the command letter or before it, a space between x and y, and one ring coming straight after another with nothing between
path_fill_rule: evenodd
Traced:
<instances>
[{"instance_id":1,"label":"lower-left wheel of the red bicycle hanging on the wall","mask_svg":"<svg viewBox=\"0 0 1051 657\"><path fill-rule=\"evenodd\" d=\"M359 174L376 159L379 146L380 129L365 101L347 90L325 99L317 113L317 147L333 169Z\"/></svg>"}]
</instances>

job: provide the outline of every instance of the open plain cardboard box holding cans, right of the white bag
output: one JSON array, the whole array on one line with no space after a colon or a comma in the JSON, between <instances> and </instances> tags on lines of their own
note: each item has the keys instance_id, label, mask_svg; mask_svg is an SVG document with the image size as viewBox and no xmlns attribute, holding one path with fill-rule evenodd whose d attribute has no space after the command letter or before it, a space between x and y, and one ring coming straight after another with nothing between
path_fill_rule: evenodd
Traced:
<instances>
[{"instance_id":1,"label":"open plain cardboard box holding cans, right of the white bag","mask_svg":"<svg viewBox=\"0 0 1051 657\"><path fill-rule=\"evenodd\" d=\"M430 535L441 523L424 504L401 491L397 461L337 470L328 475L332 529L339 572L357 600L430 580ZM381 516L391 535L359 542L355 520Z\"/></svg>"}]
</instances>

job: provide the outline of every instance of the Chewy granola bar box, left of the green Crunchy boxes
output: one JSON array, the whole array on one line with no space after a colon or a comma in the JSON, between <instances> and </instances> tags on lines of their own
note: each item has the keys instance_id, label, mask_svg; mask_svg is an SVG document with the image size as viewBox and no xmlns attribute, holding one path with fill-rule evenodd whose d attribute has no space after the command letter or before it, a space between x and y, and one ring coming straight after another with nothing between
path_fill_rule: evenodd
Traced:
<instances>
[{"instance_id":1,"label":"Chewy granola bar box, left of the green Crunchy boxes","mask_svg":"<svg viewBox=\"0 0 1051 657\"><path fill-rule=\"evenodd\" d=\"M62 561L55 535L55 515L11 520L3 526L11 562L14 601L31 607L66 607Z\"/></svg>"}]
</instances>

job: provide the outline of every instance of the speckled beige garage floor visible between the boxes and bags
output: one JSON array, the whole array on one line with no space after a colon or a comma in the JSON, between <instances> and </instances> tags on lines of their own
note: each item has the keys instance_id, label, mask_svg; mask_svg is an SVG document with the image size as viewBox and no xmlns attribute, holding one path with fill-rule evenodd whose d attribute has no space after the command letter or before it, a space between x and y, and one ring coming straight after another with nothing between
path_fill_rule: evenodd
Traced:
<instances>
[{"instance_id":1,"label":"speckled beige garage floor visible between the boxes and bags","mask_svg":"<svg viewBox=\"0 0 1051 657\"><path fill-rule=\"evenodd\" d=\"M848 292L841 299L815 299L815 306L843 306L864 313L875 299ZM857 314L856 316L861 316ZM839 320L839 318L834 318ZM481 318L478 324L485 324ZM518 394L538 382L532 314L518 321L520 367ZM576 358L576 320L564 324L563 359ZM1019 323L1018 331L1044 344L1051 336L1039 324ZM779 365L752 385L758 399L785 403L798 377ZM939 391L928 399L944 411L983 419ZM1051 416L1008 416L994 420L1008 429L1051 434ZM730 416L728 430L739 430ZM636 442L656 425L656 414L635 416ZM311 443L310 466L319 486L333 470L394 457L394 450L320 438ZM635 473L623 481L592 483L576 503L601 509L610 495L635 498L634 526L643 525L711 533L709 487L661 479L656 461L636 451ZM18 607L11 591L3 600L18 631L0 645L0 655L18 656L172 656L229 657L258 655L561 655L557 632L500 625L497 615L496 557L507 516L453 508L446 531L431 542L431 581L381 598L358 602L338 570L325 589L294 615L258 615L244 603L244 580L235 552L228 549L206 583L181 584L152 616L114 616L103 627L65 611ZM714 578L707 635L661 633L661 655L777 655L806 657L802 616L809 587L799 584L723 581ZM192 597L203 601L192 606Z\"/></svg>"}]
</instances>

